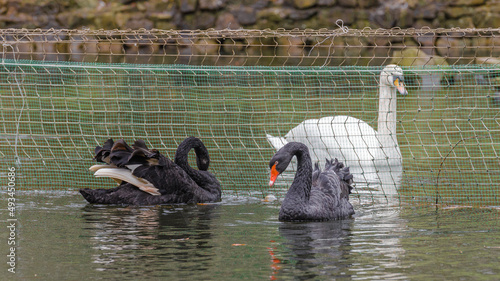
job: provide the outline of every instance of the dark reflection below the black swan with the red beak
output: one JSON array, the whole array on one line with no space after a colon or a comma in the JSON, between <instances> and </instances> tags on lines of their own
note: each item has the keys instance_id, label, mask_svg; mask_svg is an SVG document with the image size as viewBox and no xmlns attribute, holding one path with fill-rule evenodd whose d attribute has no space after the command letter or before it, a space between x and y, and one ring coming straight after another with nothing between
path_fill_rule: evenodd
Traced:
<instances>
[{"instance_id":1,"label":"dark reflection below the black swan with the red beak","mask_svg":"<svg viewBox=\"0 0 500 281\"><path fill-rule=\"evenodd\" d=\"M281 224L283 245L295 261L293 275L309 280L328 271L332 278L349 277L352 226L352 220Z\"/></svg>"}]
</instances>

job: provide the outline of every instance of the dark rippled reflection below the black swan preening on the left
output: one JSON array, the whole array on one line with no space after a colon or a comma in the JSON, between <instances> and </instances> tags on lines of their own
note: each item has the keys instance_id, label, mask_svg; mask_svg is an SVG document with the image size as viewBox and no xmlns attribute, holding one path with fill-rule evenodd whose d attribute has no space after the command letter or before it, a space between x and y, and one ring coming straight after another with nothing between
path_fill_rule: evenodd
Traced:
<instances>
[{"instance_id":1,"label":"dark rippled reflection below the black swan preening on the left","mask_svg":"<svg viewBox=\"0 0 500 281\"><path fill-rule=\"evenodd\" d=\"M155 272L161 267L175 274L178 263L172 260L185 261L184 270L213 267L215 249L210 242L212 219L218 216L213 212L216 207L85 207L83 218L97 250L92 255L92 262L99 265L95 269Z\"/></svg>"}]
</instances>

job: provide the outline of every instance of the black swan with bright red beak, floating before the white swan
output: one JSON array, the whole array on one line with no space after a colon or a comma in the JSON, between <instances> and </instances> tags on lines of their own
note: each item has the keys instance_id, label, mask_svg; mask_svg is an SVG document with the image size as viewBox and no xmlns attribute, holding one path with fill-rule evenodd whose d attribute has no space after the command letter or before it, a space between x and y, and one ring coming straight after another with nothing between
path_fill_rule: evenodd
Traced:
<instances>
[{"instance_id":1,"label":"black swan with bright red beak, floating before the white swan","mask_svg":"<svg viewBox=\"0 0 500 281\"><path fill-rule=\"evenodd\" d=\"M276 178L297 157L297 172L279 212L280 221L340 220L354 214L349 202L352 190L352 174L337 159L327 160L325 169L319 164L313 171L311 156L306 145L289 142L271 158L272 186Z\"/></svg>"}]
</instances>

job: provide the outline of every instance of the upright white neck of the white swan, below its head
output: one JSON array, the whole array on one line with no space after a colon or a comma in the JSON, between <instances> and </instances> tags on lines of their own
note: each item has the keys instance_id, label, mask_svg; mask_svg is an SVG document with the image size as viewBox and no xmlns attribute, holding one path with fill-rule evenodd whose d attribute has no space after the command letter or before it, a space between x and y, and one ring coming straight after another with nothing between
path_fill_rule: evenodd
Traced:
<instances>
[{"instance_id":1,"label":"upright white neck of the white swan, below its head","mask_svg":"<svg viewBox=\"0 0 500 281\"><path fill-rule=\"evenodd\" d=\"M382 83L381 78L379 95L377 135L382 143L394 142L396 139L396 89Z\"/></svg>"}]
</instances>

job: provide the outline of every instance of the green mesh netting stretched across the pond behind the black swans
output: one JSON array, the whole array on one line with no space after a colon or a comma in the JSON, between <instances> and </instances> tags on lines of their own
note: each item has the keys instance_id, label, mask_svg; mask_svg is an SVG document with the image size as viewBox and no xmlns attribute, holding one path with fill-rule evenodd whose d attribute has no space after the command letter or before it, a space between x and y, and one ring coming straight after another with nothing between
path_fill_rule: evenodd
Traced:
<instances>
[{"instance_id":1,"label":"green mesh netting stretched across the pond behind the black swans","mask_svg":"<svg viewBox=\"0 0 500 281\"><path fill-rule=\"evenodd\" d=\"M107 138L141 138L173 158L201 138L224 190L269 188L274 148L306 119L349 115L376 128L382 67L209 67L4 60L0 63L2 175L20 189L112 187L88 171ZM497 66L403 68L397 100L403 172L392 182L356 179L354 196L498 205L500 86ZM342 159L340 159L342 160Z\"/></svg>"}]
</instances>

